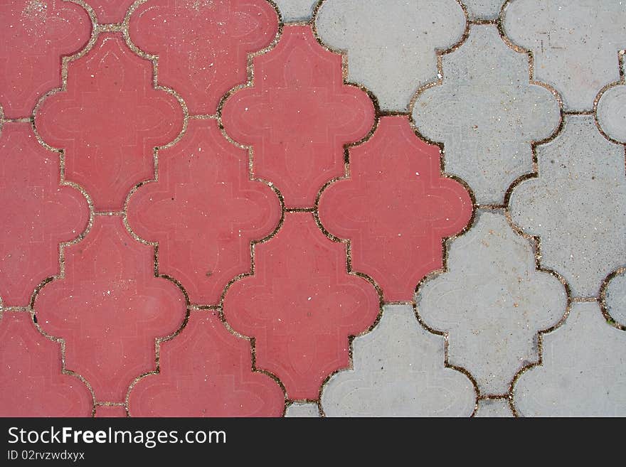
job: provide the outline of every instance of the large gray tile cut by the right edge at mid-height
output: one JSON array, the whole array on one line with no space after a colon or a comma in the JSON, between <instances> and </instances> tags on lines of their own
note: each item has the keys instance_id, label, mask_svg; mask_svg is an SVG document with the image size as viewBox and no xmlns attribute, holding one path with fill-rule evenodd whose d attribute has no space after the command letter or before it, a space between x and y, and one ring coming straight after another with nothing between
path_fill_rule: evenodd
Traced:
<instances>
[{"instance_id":1,"label":"large gray tile cut by the right edge at mid-height","mask_svg":"<svg viewBox=\"0 0 626 467\"><path fill-rule=\"evenodd\" d=\"M539 235L542 266L561 274L573 296L597 296L626 258L624 146L605 139L593 116L572 115L537 158L539 177L513 190L511 218Z\"/></svg>"}]
</instances>

